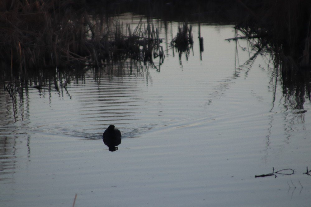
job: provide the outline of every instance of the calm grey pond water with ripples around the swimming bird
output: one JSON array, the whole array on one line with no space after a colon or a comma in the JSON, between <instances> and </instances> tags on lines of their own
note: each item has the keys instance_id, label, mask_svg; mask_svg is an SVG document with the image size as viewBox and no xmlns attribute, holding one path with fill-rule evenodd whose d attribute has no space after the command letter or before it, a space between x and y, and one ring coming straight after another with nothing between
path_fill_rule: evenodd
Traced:
<instances>
[{"instance_id":1,"label":"calm grey pond water with ripples around the swimming bird","mask_svg":"<svg viewBox=\"0 0 311 207\"><path fill-rule=\"evenodd\" d=\"M159 26L167 49L177 23ZM23 102L1 91L1 206L72 206L75 194L75 206L309 206L310 102L294 109L270 57L247 62L246 41L237 60L233 25L201 25L202 60L197 34L182 65L167 50L160 71L88 71ZM115 152L109 124L123 134ZM273 167L295 173L255 178Z\"/></svg>"}]
</instances>

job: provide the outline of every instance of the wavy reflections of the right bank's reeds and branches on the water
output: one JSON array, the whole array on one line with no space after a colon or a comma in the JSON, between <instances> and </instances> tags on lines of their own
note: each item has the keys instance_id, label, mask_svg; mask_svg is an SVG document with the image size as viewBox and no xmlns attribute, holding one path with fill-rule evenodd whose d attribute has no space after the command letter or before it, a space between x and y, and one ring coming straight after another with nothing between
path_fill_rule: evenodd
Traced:
<instances>
[{"instance_id":1,"label":"wavy reflections of the right bank's reeds and branches on the water","mask_svg":"<svg viewBox=\"0 0 311 207\"><path fill-rule=\"evenodd\" d=\"M236 77L240 77L241 73L243 74L244 78L246 79L249 76L250 71L252 70L252 66L254 65L254 62L256 61L257 56L259 55L258 52L250 53L249 59L247 59L246 62L243 64L239 64L238 59L238 47L242 50L245 50L245 47L239 45L238 41L236 42L236 66L238 63L238 67L236 68L236 71L233 75L233 79ZM282 116L283 121L283 131L284 131L284 138L282 142L285 144L290 144L290 139L292 137L295 137L295 133L299 131L304 131L307 129L305 124L305 118L308 110L304 109L305 104L305 90L306 86L304 85L304 81L302 81L300 84L294 82L293 84L298 84L300 87L292 87L292 88L286 88L285 85L283 85L281 88L283 94L281 96L280 94L280 84L283 84L282 78L280 76L280 68L274 67L273 58L272 55L266 55L261 56L258 58L263 58L263 61L265 63L265 67L263 67L261 64L259 67L262 71L268 72L270 75L269 79L269 85L268 85L268 91L271 93L271 109L270 113L268 115L268 125L267 128L267 135L266 135L266 155L264 156L264 160L266 159L266 156L268 155L268 150L271 149L271 136L273 136L273 128L279 124L279 117L280 114ZM264 97L257 95L256 93L252 92L253 96L256 96L259 102L263 102ZM279 99L279 100L278 100ZM307 103L307 106L309 106L310 103ZM308 107L309 108L309 107ZM280 111L280 112L278 112Z\"/></svg>"}]
</instances>

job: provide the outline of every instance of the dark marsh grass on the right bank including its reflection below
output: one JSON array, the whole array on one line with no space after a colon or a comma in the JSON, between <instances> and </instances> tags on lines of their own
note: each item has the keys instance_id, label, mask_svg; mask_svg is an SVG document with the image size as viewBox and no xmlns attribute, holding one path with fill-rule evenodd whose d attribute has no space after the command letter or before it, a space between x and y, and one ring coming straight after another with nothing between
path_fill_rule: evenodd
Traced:
<instances>
[{"instance_id":1,"label":"dark marsh grass on the right bank including its reflection below","mask_svg":"<svg viewBox=\"0 0 311 207\"><path fill-rule=\"evenodd\" d=\"M233 39L247 39L257 53L271 53L284 94L294 109L303 109L305 97L311 101L311 2L237 2L244 18L235 28L243 34Z\"/></svg>"}]
</instances>

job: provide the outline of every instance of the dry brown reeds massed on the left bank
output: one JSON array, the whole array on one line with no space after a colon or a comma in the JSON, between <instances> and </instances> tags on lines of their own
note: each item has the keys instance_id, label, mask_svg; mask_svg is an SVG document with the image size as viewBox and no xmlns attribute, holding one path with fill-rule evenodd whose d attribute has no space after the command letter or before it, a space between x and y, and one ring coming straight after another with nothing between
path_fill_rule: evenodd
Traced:
<instances>
[{"instance_id":1,"label":"dry brown reeds massed on the left bank","mask_svg":"<svg viewBox=\"0 0 311 207\"><path fill-rule=\"evenodd\" d=\"M85 70L129 61L157 67L164 53L152 22L135 28L69 0L0 2L0 82L4 89L66 87Z\"/></svg>"}]
</instances>

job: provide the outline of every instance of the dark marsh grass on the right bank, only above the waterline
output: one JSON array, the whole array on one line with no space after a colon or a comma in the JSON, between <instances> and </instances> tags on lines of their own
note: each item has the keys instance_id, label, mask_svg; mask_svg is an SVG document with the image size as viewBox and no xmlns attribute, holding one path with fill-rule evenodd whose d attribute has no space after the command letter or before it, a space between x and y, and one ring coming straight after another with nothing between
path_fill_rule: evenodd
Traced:
<instances>
[{"instance_id":1,"label":"dark marsh grass on the right bank, only above the waterline","mask_svg":"<svg viewBox=\"0 0 311 207\"><path fill-rule=\"evenodd\" d=\"M238 2L246 18L241 18L236 29L242 31L245 38L258 40L252 44L254 48L273 52L276 64L295 62L293 69L296 70L299 67L310 67L311 2Z\"/></svg>"}]
</instances>

